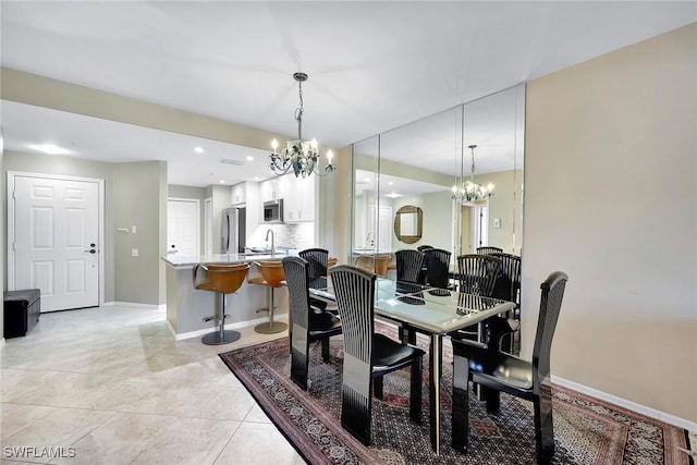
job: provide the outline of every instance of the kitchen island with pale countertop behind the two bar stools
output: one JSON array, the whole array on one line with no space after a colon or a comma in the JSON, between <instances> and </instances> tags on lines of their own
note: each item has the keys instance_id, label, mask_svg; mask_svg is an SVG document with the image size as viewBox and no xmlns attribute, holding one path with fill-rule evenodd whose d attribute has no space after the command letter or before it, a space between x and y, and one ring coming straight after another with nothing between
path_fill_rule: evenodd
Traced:
<instances>
[{"instance_id":1,"label":"kitchen island with pale countertop behind the two bar stools","mask_svg":"<svg viewBox=\"0 0 697 465\"><path fill-rule=\"evenodd\" d=\"M268 321L267 311L257 313L267 307L267 286L249 284L250 278L261 276L255 262L281 260L284 255L249 255L217 254L201 256L162 257L167 272L167 325L176 340L201 336L216 330L216 321L204 322L205 317L216 314L220 304L220 294L211 291L199 291L194 287L194 269L197 265L207 264L243 264L249 262L247 280L234 294L225 296L225 329L237 329ZM200 271L199 271L200 272ZM274 289L274 319L288 318L288 291L285 287Z\"/></svg>"}]
</instances>

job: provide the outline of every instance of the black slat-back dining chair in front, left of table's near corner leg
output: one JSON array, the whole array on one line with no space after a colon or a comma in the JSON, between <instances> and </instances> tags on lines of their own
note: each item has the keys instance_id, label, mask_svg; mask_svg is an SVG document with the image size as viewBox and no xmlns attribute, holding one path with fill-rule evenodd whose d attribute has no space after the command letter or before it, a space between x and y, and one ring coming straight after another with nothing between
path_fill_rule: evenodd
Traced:
<instances>
[{"instance_id":1,"label":"black slat-back dining chair in front, left of table's near corner leg","mask_svg":"<svg viewBox=\"0 0 697 465\"><path fill-rule=\"evenodd\" d=\"M425 352L375 332L374 273L340 265L332 268L331 280L344 333L341 426L369 444L371 393L382 399L382 377L406 367L411 367L409 417L420 424Z\"/></svg>"}]
</instances>

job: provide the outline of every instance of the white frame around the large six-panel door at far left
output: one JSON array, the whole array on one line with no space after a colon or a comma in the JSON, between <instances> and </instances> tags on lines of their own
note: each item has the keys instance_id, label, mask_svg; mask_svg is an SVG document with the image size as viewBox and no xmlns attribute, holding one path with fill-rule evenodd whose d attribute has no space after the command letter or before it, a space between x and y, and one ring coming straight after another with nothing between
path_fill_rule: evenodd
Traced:
<instances>
[{"instance_id":1,"label":"white frame around the large six-panel door at far left","mask_svg":"<svg viewBox=\"0 0 697 465\"><path fill-rule=\"evenodd\" d=\"M98 303L100 307L105 305L105 180L99 178L83 178L83 176L66 176L61 174L49 174L49 173L32 173L25 171L8 171L8 216L5 218L8 225L8 291L15 291L14 289L14 237L15 237L15 224L14 224L14 184L15 178L38 178L46 180L56 180L56 181L78 181L78 182L89 182L97 183L97 189L99 193L99 199L97 200L97 222L98 222L98 234L99 237L99 257L98 257L98 284L99 287L97 290L98 294Z\"/></svg>"}]
</instances>

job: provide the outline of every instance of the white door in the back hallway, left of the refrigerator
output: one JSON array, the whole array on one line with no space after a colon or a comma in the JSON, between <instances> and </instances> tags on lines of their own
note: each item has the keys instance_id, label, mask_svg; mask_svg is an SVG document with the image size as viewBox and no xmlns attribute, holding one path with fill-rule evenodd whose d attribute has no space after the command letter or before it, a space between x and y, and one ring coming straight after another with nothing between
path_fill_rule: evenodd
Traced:
<instances>
[{"instance_id":1,"label":"white door in the back hallway, left of the refrigerator","mask_svg":"<svg viewBox=\"0 0 697 465\"><path fill-rule=\"evenodd\" d=\"M170 198L167 201L167 253L198 256L198 200Z\"/></svg>"}]
</instances>

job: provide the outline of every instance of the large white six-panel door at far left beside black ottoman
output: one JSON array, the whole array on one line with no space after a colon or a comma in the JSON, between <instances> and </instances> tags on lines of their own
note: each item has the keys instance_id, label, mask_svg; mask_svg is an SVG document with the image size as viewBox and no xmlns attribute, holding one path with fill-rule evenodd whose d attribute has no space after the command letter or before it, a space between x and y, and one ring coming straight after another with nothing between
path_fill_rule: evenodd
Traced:
<instances>
[{"instance_id":1,"label":"large white six-panel door at far left beside black ottoman","mask_svg":"<svg viewBox=\"0 0 697 465\"><path fill-rule=\"evenodd\" d=\"M41 311L99 305L99 183L14 176L11 289L40 289Z\"/></svg>"}]
</instances>

